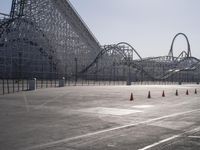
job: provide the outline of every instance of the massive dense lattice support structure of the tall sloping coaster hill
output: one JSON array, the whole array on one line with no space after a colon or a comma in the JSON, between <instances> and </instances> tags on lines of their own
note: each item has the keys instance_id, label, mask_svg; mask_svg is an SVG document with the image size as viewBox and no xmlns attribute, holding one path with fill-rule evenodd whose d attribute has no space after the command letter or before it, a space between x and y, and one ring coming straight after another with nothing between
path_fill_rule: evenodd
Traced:
<instances>
[{"instance_id":1,"label":"massive dense lattice support structure of the tall sloping coaster hill","mask_svg":"<svg viewBox=\"0 0 200 150\"><path fill-rule=\"evenodd\" d=\"M10 78L71 76L75 59L81 70L100 51L66 0L13 0L10 20L0 28L1 71Z\"/></svg>"}]
</instances>

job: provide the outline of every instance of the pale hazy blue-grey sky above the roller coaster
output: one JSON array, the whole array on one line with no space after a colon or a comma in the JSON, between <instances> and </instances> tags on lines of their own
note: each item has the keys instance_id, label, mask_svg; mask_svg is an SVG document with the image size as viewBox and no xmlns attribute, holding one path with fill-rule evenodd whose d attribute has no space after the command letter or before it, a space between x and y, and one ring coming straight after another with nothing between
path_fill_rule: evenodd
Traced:
<instances>
[{"instance_id":1,"label":"pale hazy blue-grey sky above the roller coaster","mask_svg":"<svg viewBox=\"0 0 200 150\"><path fill-rule=\"evenodd\" d=\"M0 11L11 0L0 0ZM200 0L71 0L103 44L130 43L142 57L166 55L176 33L185 33L192 55L200 58ZM175 55L186 50L180 36Z\"/></svg>"}]
</instances>

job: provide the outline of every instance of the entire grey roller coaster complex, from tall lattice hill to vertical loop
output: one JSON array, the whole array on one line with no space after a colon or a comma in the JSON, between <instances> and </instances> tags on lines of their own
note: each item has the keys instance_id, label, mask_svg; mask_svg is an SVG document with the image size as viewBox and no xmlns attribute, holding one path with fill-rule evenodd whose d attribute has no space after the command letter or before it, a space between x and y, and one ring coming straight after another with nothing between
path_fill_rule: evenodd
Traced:
<instances>
[{"instance_id":1,"label":"entire grey roller coaster complex, from tall lattice hill to vertical loop","mask_svg":"<svg viewBox=\"0 0 200 150\"><path fill-rule=\"evenodd\" d=\"M101 46L68 0L13 0L10 14L0 15L1 78L200 81L184 33L168 55L142 58L126 42ZM174 56L179 36L187 51Z\"/></svg>"}]
</instances>

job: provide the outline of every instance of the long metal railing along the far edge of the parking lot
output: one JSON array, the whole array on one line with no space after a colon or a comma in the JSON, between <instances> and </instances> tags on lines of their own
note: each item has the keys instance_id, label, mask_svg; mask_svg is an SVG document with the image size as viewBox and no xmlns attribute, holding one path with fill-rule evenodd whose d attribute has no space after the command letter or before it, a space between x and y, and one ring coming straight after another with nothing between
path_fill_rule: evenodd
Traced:
<instances>
[{"instance_id":1,"label":"long metal railing along the far edge of the parking lot","mask_svg":"<svg viewBox=\"0 0 200 150\"><path fill-rule=\"evenodd\" d=\"M127 85L126 80L116 78L108 79L37 79L35 82L36 89L58 88L60 81L63 80L64 86L119 86ZM30 90L30 79L0 79L0 95L11 94L21 91ZM176 82L176 81L132 81L131 85L180 85L180 84L199 84L199 82Z\"/></svg>"}]
</instances>

